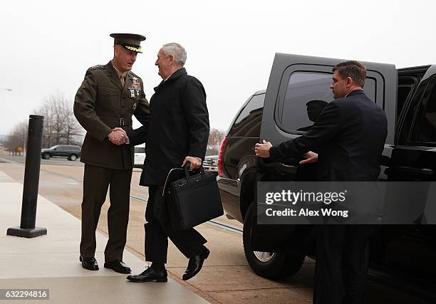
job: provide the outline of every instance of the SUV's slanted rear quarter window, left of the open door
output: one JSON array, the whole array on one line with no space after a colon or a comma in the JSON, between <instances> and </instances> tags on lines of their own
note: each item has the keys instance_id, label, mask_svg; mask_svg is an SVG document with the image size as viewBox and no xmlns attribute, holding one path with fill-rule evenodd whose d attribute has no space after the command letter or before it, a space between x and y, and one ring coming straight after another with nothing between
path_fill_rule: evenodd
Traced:
<instances>
[{"instance_id":1,"label":"SUV's slanted rear quarter window, left of the open door","mask_svg":"<svg viewBox=\"0 0 436 304\"><path fill-rule=\"evenodd\" d=\"M259 137L265 94L254 95L235 120L229 136Z\"/></svg>"}]
</instances>

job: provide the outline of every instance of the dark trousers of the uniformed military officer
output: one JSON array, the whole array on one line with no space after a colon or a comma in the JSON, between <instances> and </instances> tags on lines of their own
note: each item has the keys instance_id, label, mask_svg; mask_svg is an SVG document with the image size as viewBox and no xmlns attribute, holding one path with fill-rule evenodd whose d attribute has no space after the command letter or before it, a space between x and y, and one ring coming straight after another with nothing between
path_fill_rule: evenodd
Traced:
<instances>
[{"instance_id":1,"label":"dark trousers of the uniformed military officer","mask_svg":"<svg viewBox=\"0 0 436 304\"><path fill-rule=\"evenodd\" d=\"M105 248L105 261L123 259L129 221L131 179L132 169L107 169L85 164L81 236L81 256L84 258L95 255L95 229L110 186L109 239Z\"/></svg>"}]
</instances>

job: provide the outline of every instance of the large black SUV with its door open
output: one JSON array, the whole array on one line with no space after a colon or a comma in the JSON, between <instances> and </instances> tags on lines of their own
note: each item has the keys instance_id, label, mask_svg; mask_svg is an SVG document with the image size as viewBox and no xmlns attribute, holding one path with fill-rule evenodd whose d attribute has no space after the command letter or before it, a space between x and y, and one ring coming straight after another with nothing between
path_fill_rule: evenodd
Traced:
<instances>
[{"instance_id":1,"label":"large black SUV with its door open","mask_svg":"<svg viewBox=\"0 0 436 304\"><path fill-rule=\"evenodd\" d=\"M254 145L302 135L313 120L308 101L331 102L332 68L341 60L277 53L268 88L251 95L234 118L219 152L217 178L227 217L244 224L244 251L255 273L294 275L315 256L310 225L255 225L256 182L314 180L316 164L258 159ZM388 117L380 180L436 180L436 65L396 69L364 63L365 93ZM435 202L432 202L435 203ZM436 286L436 227L378 227L370 245L370 274L423 292ZM398 278L401 278L398 281ZM403 285L403 284L402 284Z\"/></svg>"}]
</instances>

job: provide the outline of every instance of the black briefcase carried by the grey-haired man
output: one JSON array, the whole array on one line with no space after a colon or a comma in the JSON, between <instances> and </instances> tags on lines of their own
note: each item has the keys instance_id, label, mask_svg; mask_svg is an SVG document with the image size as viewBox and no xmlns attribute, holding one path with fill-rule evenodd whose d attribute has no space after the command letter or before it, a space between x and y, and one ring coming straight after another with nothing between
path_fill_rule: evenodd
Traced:
<instances>
[{"instance_id":1,"label":"black briefcase carried by the grey-haired man","mask_svg":"<svg viewBox=\"0 0 436 304\"><path fill-rule=\"evenodd\" d=\"M167 210L177 230L190 229L224 214L215 174L204 172L203 167L199 172L187 168L172 169L164 186ZM177 175L182 178L174 180Z\"/></svg>"}]
</instances>

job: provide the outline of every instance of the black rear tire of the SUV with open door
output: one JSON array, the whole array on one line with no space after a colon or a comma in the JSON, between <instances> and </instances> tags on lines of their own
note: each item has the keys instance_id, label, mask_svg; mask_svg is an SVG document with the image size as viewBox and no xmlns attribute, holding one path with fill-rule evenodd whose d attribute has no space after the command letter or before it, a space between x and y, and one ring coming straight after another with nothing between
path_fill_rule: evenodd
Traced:
<instances>
[{"instance_id":1,"label":"black rear tire of the SUV with open door","mask_svg":"<svg viewBox=\"0 0 436 304\"><path fill-rule=\"evenodd\" d=\"M254 273L264 278L279 279L294 276L303 265L305 258L303 254L291 254L281 251L269 253L250 250L251 227L254 224L255 215L256 204L254 203L246 211L242 235L244 253L249 266Z\"/></svg>"}]
</instances>

